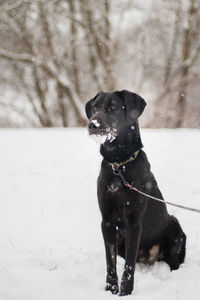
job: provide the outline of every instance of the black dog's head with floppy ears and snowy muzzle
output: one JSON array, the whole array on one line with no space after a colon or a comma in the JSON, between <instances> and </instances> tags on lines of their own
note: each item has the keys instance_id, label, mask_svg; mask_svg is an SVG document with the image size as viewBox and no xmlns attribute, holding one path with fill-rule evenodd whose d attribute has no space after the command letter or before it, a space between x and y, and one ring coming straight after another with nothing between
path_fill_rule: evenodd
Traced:
<instances>
[{"instance_id":1,"label":"black dog's head with floppy ears and snowy muzzle","mask_svg":"<svg viewBox=\"0 0 200 300\"><path fill-rule=\"evenodd\" d=\"M103 137L102 143L112 143L129 129L134 132L145 105L143 98L126 90L99 92L85 107L89 134Z\"/></svg>"}]
</instances>

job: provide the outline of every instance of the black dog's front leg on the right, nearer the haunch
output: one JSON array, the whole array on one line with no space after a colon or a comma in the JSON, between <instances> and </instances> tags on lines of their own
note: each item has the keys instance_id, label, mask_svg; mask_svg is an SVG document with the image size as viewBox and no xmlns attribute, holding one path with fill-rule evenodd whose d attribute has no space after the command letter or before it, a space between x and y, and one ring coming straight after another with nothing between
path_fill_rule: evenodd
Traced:
<instances>
[{"instance_id":1,"label":"black dog's front leg on the right, nearer the haunch","mask_svg":"<svg viewBox=\"0 0 200 300\"><path fill-rule=\"evenodd\" d=\"M130 295L134 288L134 272L140 243L142 225L140 222L127 221L125 242L125 266L121 281L120 296Z\"/></svg>"}]
</instances>

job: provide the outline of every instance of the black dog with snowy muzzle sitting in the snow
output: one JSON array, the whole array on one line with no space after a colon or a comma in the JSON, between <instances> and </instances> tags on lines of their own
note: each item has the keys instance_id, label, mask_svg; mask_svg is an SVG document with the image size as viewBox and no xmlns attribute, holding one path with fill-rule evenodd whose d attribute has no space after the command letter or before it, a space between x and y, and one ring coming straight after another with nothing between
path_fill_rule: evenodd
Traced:
<instances>
[{"instance_id":1,"label":"black dog with snowy muzzle sitting in the snow","mask_svg":"<svg viewBox=\"0 0 200 300\"><path fill-rule=\"evenodd\" d=\"M90 135L105 137L98 178L98 201L102 214L107 279L106 290L119 292L116 256L125 258L120 295L131 294L136 261L152 264L163 260L171 270L184 261L186 236L165 202L156 202L128 189L113 173L157 198L162 194L151 173L143 147L138 117L145 101L128 91L100 92L86 104Z\"/></svg>"}]
</instances>

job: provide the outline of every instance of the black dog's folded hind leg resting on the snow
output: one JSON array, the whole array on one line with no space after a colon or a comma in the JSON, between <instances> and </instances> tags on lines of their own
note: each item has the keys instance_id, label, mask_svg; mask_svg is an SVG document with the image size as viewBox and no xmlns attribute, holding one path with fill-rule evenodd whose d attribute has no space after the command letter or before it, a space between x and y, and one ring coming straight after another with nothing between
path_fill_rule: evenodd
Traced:
<instances>
[{"instance_id":1,"label":"black dog's folded hind leg resting on the snow","mask_svg":"<svg viewBox=\"0 0 200 300\"><path fill-rule=\"evenodd\" d=\"M165 232L165 242L163 247L164 261L171 270L177 270L184 262L186 236L182 228L173 216L170 217L169 224Z\"/></svg>"}]
</instances>

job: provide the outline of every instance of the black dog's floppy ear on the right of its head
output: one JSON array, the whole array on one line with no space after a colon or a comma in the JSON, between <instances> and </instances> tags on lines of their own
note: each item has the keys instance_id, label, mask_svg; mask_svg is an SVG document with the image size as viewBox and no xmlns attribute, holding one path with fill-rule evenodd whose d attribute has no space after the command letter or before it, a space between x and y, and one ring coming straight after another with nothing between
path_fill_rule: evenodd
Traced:
<instances>
[{"instance_id":1,"label":"black dog's floppy ear on the right of its head","mask_svg":"<svg viewBox=\"0 0 200 300\"><path fill-rule=\"evenodd\" d=\"M136 93L132 93L126 90L118 92L121 94L125 101L127 114L131 119L137 119L144 111L146 102L142 97Z\"/></svg>"}]
</instances>

